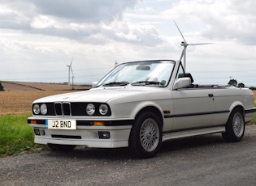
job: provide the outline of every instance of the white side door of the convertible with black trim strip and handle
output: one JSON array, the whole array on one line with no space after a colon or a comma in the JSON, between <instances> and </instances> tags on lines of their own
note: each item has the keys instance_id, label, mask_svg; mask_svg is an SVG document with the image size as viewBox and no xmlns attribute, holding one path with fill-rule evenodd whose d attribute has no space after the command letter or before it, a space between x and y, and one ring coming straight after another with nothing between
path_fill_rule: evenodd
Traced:
<instances>
[{"instance_id":1,"label":"white side door of the convertible with black trim strip and handle","mask_svg":"<svg viewBox=\"0 0 256 186\"><path fill-rule=\"evenodd\" d=\"M201 129L214 125L215 102L210 89L184 88L172 91L172 130Z\"/></svg>"}]
</instances>

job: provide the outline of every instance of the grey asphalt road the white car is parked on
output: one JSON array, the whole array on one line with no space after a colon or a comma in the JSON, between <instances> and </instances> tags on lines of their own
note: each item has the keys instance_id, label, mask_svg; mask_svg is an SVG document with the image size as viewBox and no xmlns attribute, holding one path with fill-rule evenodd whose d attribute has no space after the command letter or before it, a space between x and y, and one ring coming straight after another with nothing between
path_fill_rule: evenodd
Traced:
<instances>
[{"instance_id":1,"label":"grey asphalt road the white car is parked on","mask_svg":"<svg viewBox=\"0 0 256 186\"><path fill-rule=\"evenodd\" d=\"M256 185L256 125L243 141L221 134L163 143L153 159L127 149L41 152L0 159L0 185Z\"/></svg>"}]
</instances>

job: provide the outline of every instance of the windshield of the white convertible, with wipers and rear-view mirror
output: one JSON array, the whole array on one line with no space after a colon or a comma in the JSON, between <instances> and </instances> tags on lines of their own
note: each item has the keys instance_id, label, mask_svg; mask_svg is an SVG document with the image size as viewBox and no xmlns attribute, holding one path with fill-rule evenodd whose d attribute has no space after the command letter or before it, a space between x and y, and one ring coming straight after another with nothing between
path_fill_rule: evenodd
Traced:
<instances>
[{"instance_id":1,"label":"windshield of the white convertible, with wipers and rear-view mirror","mask_svg":"<svg viewBox=\"0 0 256 186\"><path fill-rule=\"evenodd\" d=\"M174 67L174 61L137 61L115 67L98 86L157 86L166 87Z\"/></svg>"}]
</instances>

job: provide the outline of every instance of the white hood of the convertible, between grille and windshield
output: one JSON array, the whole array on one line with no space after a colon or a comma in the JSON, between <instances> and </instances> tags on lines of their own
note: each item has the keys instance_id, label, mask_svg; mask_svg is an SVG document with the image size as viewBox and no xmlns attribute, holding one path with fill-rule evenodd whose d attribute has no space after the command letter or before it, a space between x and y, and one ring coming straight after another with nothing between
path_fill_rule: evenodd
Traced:
<instances>
[{"instance_id":1,"label":"white hood of the convertible, between grille and windshield","mask_svg":"<svg viewBox=\"0 0 256 186\"><path fill-rule=\"evenodd\" d=\"M101 102L106 103L111 99L119 99L132 95L143 95L162 91L159 87L98 87L89 91L78 91L61 95L51 95L37 99L34 103L50 102Z\"/></svg>"}]
</instances>

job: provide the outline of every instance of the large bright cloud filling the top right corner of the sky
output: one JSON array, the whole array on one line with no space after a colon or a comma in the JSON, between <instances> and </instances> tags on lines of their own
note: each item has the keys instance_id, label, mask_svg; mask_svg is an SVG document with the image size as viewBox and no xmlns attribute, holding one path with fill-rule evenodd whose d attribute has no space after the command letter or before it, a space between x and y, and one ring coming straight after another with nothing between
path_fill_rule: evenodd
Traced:
<instances>
[{"instance_id":1,"label":"large bright cloud filling the top right corner of the sky","mask_svg":"<svg viewBox=\"0 0 256 186\"><path fill-rule=\"evenodd\" d=\"M163 11L166 19L204 25L202 36L218 40L236 39L243 44L254 44L256 14L254 1L242 0L182 0L176 6Z\"/></svg>"}]
</instances>

